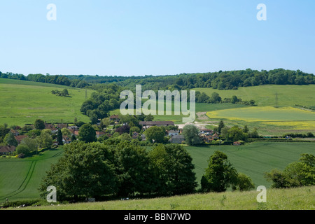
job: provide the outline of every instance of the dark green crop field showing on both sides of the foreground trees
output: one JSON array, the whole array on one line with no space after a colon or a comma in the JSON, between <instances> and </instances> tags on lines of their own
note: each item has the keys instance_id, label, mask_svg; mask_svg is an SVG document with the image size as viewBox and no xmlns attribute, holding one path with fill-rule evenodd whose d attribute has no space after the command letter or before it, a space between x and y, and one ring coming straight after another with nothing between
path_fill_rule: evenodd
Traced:
<instances>
[{"instance_id":1,"label":"dark green crop field showing on both sides of the foreground trees","mask_svg":"<svg viewBox=\"0 0 315 224\"><path fill-rule=\"evenodd\" d=\"M283 169L295 162L302 153L314 154L312 143L255 142L246 146L185 146L193 158L197 182L200 183L209 157L214 151L223 151L228 155L238 172L247 174L255 186L269 187L263 176L271 169ZM62 156L62 149L45 151L33 158L0 158L0 203L6 198L10 201L36 199L38 187L45 171Z\"/></svg>"}]
</instances>

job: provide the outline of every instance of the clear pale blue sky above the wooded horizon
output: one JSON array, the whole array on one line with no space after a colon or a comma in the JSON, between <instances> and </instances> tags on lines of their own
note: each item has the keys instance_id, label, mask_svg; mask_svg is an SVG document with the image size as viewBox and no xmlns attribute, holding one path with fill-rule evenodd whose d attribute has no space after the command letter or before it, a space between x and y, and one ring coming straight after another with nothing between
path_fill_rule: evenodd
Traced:
<instances>
[{"instance_id":1,"label":"clear pale blue sky above the wooded horizon","mask_svg":"<svg viewBox=\"0 0 315 224\"><path fill-rule=\"evenodd\" d=\"M48 3L57 21L48 21ZM258 3L267 21L258 21ZM3 0L0 71L99 76L315 73L314 0Z\"/></svg>"}]
</instances>

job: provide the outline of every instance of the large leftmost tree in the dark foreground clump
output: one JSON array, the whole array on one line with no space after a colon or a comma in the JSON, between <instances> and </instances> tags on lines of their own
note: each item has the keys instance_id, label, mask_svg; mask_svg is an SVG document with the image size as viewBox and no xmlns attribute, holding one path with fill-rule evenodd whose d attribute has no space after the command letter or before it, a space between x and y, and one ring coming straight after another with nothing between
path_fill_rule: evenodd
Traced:
<instances>
[{"instance_id":1,"label":"large leftmost tree in the dark foreground clump","mask_svg":"<svg viewBox=\"0 0 315 224\"><path fill-rule=\"evenodd\" d=\"M52 165L41 182L41 196L47 187L57 188L57 200L102 197L117 193L117 179L111 153L101 143L75 141L64 147L64 155Z\"/></svg>"}]
</instances>

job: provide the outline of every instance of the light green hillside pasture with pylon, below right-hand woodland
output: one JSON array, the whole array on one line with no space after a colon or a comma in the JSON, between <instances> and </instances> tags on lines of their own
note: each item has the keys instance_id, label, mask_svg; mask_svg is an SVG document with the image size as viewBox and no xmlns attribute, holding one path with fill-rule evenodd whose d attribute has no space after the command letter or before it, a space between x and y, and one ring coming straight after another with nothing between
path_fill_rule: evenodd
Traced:
<instances>
[{"instance_id":1,"label":"light green hillside pasture with pylon, below right-hand woodland","mask_svg":"<svg viewBox=\"0 0 315 224\"><path fill-rule=\"evenodd\" d=\"M239 87L239 90L214 90L212 88L194 90L205 92L209 96L212 92L218 92L222 99L231 98L233 95L243 101L253 99L258 106L276 106L276 94L278 94L278 106L297 104L315 109L315 85L259 85Z\"/></svg>"}]
</instances>

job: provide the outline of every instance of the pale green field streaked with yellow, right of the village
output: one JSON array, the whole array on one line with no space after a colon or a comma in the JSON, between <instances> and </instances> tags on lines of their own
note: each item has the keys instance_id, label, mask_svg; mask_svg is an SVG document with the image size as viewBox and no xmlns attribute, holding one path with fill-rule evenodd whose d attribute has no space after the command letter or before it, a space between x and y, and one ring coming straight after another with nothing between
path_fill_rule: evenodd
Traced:
<instances>
[{"instance_id":1,"label":"pale green field streaked with yellow, right of the village","mask_svg":"<svg viewBox=\"0 0 315 224\"><path fill-rule=\"evenodd\" d=\"M225 120L229 125L257 127L260 134L286 134L292 132L315 133L315 112L286 106L258 106L241 109L209 111L212 120Z\"/></svg>"}]
</instances>

